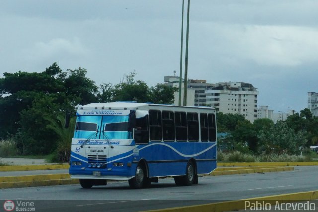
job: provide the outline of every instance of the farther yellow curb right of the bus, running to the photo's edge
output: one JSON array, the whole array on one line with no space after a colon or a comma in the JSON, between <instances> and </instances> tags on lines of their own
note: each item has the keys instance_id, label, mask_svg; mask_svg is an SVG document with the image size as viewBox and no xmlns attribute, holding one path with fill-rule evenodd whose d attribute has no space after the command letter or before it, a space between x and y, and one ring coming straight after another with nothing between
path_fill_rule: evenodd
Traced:
<instances>
[{"instance_id":1,"label":"farther yellow curb right of the bus, running to the photo's edge","mask_svg":"<svg viewBox=\"0 0 318 212\"><path fill-rule=\"evenodd\" d=\"M218 166L318 166L318 162L235 162L217 163Z\"/></svg>"}]
</instances>

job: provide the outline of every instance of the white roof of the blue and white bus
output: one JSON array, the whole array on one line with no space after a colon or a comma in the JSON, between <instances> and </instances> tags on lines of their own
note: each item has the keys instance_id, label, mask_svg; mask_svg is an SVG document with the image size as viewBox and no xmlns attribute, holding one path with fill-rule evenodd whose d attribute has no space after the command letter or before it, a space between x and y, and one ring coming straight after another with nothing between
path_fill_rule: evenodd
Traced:
<instances>
[{"instance_id":1,"label":"white roof of the blue and white bus","mask_svg":"<svg viewBox=\"0 0 318 212\"><path fill-rule=\"evenodd\" d=\"M154 103L137 103L137 102L111 102L111 103L90 103L87 105L79 106L78 109L127 109L136 110L143 109L149 106L166 106L166 107L184 107L184 108L196 108L196 109L211 109L212 107L202 106L175 106L170 104L154 104Z\"/></svg>"}]
</instances>

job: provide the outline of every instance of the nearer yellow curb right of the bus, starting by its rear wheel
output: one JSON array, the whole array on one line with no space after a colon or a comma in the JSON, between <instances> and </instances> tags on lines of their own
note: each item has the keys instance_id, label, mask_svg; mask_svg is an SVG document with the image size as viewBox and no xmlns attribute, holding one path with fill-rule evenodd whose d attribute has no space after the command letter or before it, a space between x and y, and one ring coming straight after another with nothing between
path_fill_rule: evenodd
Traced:
<instances>
[{"instance_id":1,"label":"nearer yellow curb right of the bus, starting by its rear wheel","mask_svg":"<svg viewBox=\"0 0 318 212\"><path fill-rule=\"evenodd\" d=\"M253 173L264 173L264 172L283 172L283 171L293 171L294 167L276 167L276 168L261 168L261 169L241 169L241 170L229 170L229 171L213 171L209 175L219 176L219 175L236 175L236 174L253 174Z\"/></svg>"}]
</instances>

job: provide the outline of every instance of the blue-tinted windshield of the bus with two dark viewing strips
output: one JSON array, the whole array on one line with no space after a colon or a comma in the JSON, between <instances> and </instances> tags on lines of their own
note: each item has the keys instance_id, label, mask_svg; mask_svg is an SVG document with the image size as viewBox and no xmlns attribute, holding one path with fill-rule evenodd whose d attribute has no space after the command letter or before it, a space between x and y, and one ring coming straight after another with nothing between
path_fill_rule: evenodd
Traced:
<instances>
[{"instance_id":1,"label":"blue-tinted windshield of the bus with two dark viewing strips","mask_svg":"<svg viewBox=\"0 0 318 212\"><path fill-rule=\"evenodd\" d=\"M132 139L128 116L78 116L74 138L80 139Z\"/></svg>"}]
</instances>

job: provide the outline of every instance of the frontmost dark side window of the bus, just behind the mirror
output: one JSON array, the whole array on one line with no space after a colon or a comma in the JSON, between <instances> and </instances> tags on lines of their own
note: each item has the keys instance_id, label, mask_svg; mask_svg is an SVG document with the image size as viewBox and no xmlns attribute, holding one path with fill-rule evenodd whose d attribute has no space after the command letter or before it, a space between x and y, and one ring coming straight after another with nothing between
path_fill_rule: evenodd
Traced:
<instances>
[{"instance_id":1,"label":"frontmost dark side window of the bus, just behind the mirror","mask_svg":"<svg viewBox=\"0 0 318 212\"><path fill-rule=\"evenodd\" d=\"M148 115L142 118L136 118L135 143L149 143Z\"/></svg>"}]
</instances>

